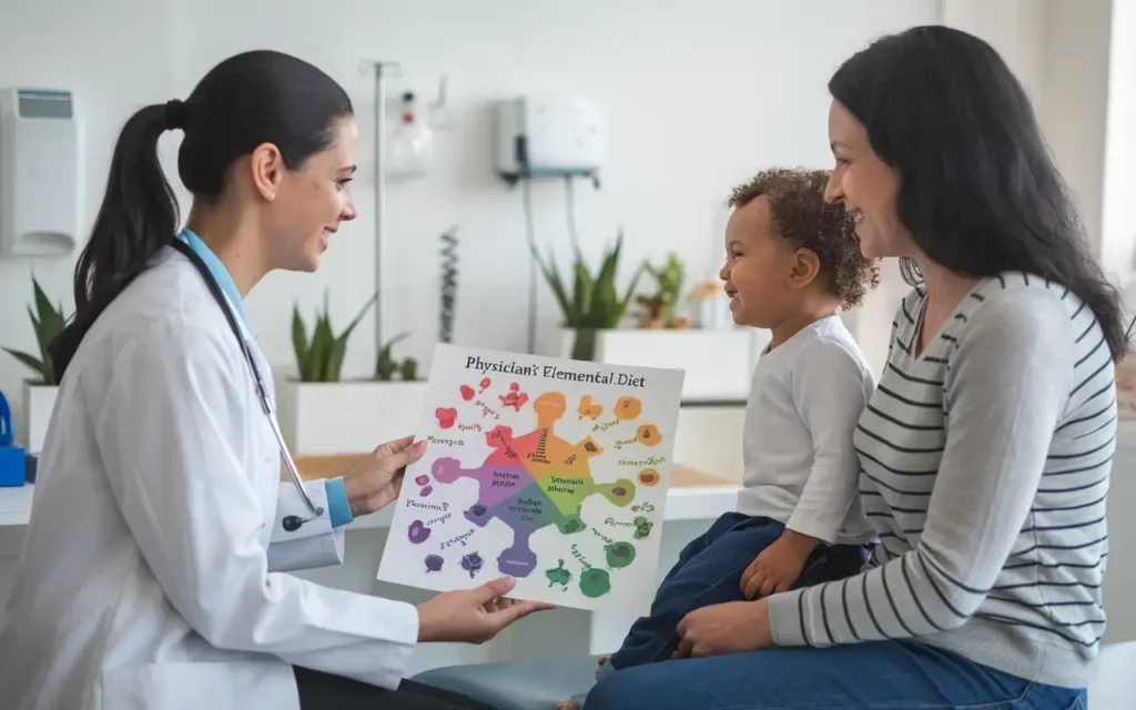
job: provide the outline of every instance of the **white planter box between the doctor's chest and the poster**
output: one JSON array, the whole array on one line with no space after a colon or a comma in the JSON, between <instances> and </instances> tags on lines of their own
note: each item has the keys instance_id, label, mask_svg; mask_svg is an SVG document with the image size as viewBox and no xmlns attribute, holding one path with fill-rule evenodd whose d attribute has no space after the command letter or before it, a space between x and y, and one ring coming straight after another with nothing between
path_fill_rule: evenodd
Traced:
<instances>
[{"instance_id":1,"label":"white planter box between the doctor's chest and the poster","mask_svg":"<svg viewBox=\"0 0 1136 710\"><path fill-rule=\"evenodd\" d=\"M293 456L367 453L414 434L425 382L276 381L276 416Z\"/></svg>"}]
</instances>

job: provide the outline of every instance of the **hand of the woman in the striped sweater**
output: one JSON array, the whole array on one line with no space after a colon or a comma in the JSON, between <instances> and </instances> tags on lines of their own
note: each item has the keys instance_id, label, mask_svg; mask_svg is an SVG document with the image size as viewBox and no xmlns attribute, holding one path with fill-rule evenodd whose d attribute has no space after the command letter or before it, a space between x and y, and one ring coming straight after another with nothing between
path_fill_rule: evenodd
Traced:
<instances>
[{"instance_id":1,"label":"hand of the woman in the striped sweater","mask_svg":"<svg viewBox=\"0 0 1136 710\"><path fill-rule=\"evenodd\" d=\"M769 629L769 600L726 602L696 609L678 623L675 658L725 655L768 649L774 645Z\"/></svg>"}]
</instances>

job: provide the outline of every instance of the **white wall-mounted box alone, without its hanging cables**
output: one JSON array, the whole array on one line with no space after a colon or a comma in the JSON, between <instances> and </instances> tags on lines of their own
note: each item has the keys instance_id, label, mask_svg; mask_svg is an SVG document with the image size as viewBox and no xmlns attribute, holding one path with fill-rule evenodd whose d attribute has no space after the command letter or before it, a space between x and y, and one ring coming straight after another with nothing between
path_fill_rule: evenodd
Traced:
<instances>
[{"instance_id":1,"label":"white wall-mounted box alone, without its hanging cables","mask_svg":"<svg viewBox=\"0 0 1136 710\"><path fill-rule=\"evenodd\" d=\"M582 97L523 95L496 105L496 170L526 177L596 179L603 162L600 109Z\"/></svg>"}]
</instances>

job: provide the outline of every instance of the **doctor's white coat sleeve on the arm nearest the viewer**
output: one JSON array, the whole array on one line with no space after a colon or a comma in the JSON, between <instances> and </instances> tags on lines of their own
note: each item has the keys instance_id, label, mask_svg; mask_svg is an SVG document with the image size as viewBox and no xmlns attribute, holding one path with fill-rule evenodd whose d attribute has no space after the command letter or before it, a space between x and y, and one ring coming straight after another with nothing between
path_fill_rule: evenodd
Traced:
<instances>
[{"instance_id":1,"label":"doctor's white coat sleeve on the arm nearest the viewer","mask_svg":"<svg viewBox=\"0 0 1136 710\"><path fill-rule=\"evenodd\" d=\"M269 571L272 511L234 441L244 367L222 334L176 316L122 343L94 435L123 520L208 643L393 687L418 640L414 605Z\"/></svg>"}]
</instances>

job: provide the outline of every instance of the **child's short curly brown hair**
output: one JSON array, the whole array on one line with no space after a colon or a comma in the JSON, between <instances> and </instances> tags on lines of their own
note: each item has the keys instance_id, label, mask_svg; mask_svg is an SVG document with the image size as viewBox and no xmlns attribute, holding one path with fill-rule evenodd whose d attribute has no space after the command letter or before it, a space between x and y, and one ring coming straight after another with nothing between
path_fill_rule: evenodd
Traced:
<instances>
[{"instance_id":1,"label":"child's short curly brown hair","mask_svg":"<svg viewBox=\"0 0 1136 710\"><path fill-rule=\"evenodd\" d=\"M860 253L855 225L844 207L825 201L827 184L828 170L772 168L734 187L728 206L768 198L778 234L817 254L821 277L846 310L879 285L879 265Z\"/></svg>"}]
</instances>

